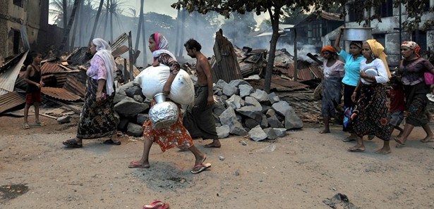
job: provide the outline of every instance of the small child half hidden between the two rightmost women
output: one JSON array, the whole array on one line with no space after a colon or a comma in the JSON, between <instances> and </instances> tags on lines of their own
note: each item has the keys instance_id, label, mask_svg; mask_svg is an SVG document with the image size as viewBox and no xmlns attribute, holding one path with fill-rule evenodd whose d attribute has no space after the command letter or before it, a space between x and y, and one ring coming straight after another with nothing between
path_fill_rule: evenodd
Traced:
<instances>
[{"instance_id":1,"label":"small child half hidden between the two rightmost women","mask_svg":"<svg viewBox=\"0 0 434 209\"><path fill-rule=\"evenodd\" d=\"M402 120L404 119L405 101L404 101L404 89L402 89L402 84L397 80L397 77L390 78L390 92L387 96L390 97L390 108L389 108L389 125L390 134L392 134L394 129L399 130L397 137L402 136L402 129L399 127Z\"/></svg>"}]
</instances>

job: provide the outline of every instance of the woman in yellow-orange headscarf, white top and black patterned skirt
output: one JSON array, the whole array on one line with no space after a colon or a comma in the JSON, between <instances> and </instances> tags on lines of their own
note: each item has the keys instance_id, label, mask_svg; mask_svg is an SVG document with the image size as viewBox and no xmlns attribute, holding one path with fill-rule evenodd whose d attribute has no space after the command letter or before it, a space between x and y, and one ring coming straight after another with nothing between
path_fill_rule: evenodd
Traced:
<instances>
[{"instance_id":1,"label":"woman in yellow-orange headscarf, white top and black patterned skirt","mask_svg":"<svg viewBox=\"0 0 434 209\"><path fill-rule=\"evenodd\" d=\"M356 146L348 151L365 151L363 135L375 135L384 141L382 148L375 153L390 153L390 131L387 122L387 97L384 84L390 78L384 47L375 39L362 45L363 57L360 63L360 80L351 99L356 102L351 115L353 132L358 136ZM356 98L358 98L356 100Z\"/></svg>"}]
</instances>

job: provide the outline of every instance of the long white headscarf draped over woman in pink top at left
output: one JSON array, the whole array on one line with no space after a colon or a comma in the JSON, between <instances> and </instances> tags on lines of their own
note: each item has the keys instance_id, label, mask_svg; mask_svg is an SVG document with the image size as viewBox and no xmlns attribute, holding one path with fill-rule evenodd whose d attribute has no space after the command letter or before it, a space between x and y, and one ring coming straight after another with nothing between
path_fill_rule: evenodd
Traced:
<instances>
[{"instance_id":1,"label":"long white headscarf draped over woman in pink top at left","mask_svg":"<svg viewBox=\"0 0 434 209\"><path fill-rule=\"evenodd\" d=\"M116 68L116 63L114 63L114 58L111 55L111 48L109 44L104 41L104 39L96 38L92 40L92 43L95 44L97 49L97 53L95 53L95 55L102 58L107 69L107 80L105 82L105 88L107 91L107 95L110 96L114 91L114 70Z\"/></svg>"}]
</instances>

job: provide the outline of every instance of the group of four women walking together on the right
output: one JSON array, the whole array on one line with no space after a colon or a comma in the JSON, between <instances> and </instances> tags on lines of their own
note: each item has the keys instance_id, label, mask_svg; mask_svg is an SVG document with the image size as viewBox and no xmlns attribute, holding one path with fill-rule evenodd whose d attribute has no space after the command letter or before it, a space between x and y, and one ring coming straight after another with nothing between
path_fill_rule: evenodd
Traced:
<instances>
[{"instance_id":1,"label":"group of four women walking together on the right","mask_svg":"<svg viewBox=\"0 0 434 209\"><path fill-rule=\"evenodd\" d=\"M339 30L334 47L325 46L321 50L324 61L322 116L324 129L320 133L329 133L329 120L334 116L335 108L341 103L341 87L344 86L343 130L350 136L343 141L356 141L348 151L365 151L363 136L371 140L382 139L383 146L376 153L390 153L392 129L389 120L385 84L391 73L387 65L384 47L375 39L365 42L350 43L349 53L339 46L343 28ZM403 42L397 78L402 82L406 103L406 123L402 134L394 138L400 146L404 145L411 130L421 126L430 141L434 136L428 125L426 106L430 86L424 82L424 72L434 74L433 65L419 55L420 47L415 42ZM345 63L337 60L339 55ZM341 84L342 82L342 84Z\"/></svg>"}]
</instances>

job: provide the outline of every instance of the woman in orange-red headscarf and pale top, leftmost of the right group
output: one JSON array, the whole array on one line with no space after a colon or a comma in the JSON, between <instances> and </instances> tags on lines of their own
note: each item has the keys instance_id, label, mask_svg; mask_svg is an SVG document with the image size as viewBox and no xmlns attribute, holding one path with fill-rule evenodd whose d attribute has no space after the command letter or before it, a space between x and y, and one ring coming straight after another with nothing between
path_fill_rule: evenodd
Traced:
<instances>
[{"instance_id":1,"label":"woman in orange-red headscarf and pale top, leftmost of the right group","mask_svg":"<svg viewBox=\"0 0 434 209\"><path fill-rule=\"evenodd\" d=\"M329 120L335 116L335 109L341 103L341 82L345 75L344 63L336 59L337 53L333 46L324 46L320 56L324 60L323 98L321 99L321 116L324 129L320 134L330 133Z\"/></svg>"}]
</instances>

